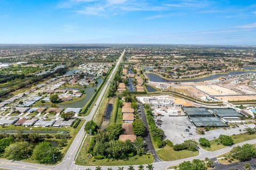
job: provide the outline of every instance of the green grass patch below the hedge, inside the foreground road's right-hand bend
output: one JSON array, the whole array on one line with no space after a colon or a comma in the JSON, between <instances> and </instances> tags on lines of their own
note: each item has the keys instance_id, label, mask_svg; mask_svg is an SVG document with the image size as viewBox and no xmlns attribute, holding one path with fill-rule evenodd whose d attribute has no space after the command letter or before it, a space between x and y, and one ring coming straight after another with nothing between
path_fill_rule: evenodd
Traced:
<instances>
[{"instance_id":1,"label":"green grass patch below the hedge, inside the foreground road's right-hand bend","mask_svg":"<svg viewBox=\"0 0 256 170\"><path fill-rule=\"evenodd\" d=\"M189 150L175 151L170 146L165 146L162 149L156 150L157 155L164 161L178 160L183 158L194 157L199 154L199 151L191 152Z\"/></svg>"}]
</instances>

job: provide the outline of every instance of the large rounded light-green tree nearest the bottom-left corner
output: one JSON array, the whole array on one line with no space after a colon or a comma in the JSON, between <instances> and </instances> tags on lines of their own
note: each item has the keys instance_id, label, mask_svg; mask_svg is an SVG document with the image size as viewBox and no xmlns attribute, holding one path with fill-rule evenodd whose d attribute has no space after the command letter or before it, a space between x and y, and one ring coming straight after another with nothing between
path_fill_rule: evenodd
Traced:
<instances>
[{"instance_id":1,"label":"large rounded light-green tree nearest the bottom-left corner","mask_svg":"<svg viewBox=\"0 0 256 170\"><path fill-rule=\"evenodd\" d=\"M32 150L28 142L16 142L5 149L4 157L12 160L27 159L31 156Z\"/></svg>"}]
</instances>

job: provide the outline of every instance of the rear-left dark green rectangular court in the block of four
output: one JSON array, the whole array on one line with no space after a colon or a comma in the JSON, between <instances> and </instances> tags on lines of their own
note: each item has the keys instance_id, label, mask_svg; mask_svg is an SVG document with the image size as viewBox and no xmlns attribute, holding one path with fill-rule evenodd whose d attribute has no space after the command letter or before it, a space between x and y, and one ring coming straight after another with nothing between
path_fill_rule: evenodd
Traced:
<instances>
[{"instance_id":1,"label":"rear-left dark green rectangular court in the block of four","mask_svg":"<svg viewBox=\"0 0 256 170\"><path fill-rule=\"evenodd\" d=\"M182 107L188 116L213 116L205 107Z\"/></svg>"}]
</instances>

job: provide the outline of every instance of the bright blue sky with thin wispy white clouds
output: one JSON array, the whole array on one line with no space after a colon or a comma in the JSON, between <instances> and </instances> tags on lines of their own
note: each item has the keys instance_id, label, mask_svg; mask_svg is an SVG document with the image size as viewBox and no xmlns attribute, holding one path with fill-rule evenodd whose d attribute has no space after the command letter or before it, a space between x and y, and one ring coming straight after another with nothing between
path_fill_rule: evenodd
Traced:
<instances>
[{"instance_id":1,"label":"bright blue sky with thin wispy white clouds","mask_svg":"<svg viewBox=\"0 0 256 170\"><path fill-rule=\"evenodd\" d=\"M0 0L1 44L256 45L254 0Z\"/></svg>"}]
</instances>

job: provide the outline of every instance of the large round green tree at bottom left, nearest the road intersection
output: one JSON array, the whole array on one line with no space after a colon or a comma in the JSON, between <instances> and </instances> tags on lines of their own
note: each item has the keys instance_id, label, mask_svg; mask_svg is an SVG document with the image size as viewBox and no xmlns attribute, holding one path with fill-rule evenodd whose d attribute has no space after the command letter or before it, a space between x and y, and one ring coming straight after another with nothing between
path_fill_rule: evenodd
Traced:
<instances>
[{"instance_id":1,"label":"large round green tree at bottom left, nearest the road intersection","mask_svg":"<svg viewBox=\"0 0 256 170\"><path fill-rule=\"evenodd\" d=\"M38 163L52 164L57 162L60 152L57 148L52 147L50 142L39 143L33 151L33 159Z\"/></svg>"}]
</instances>

